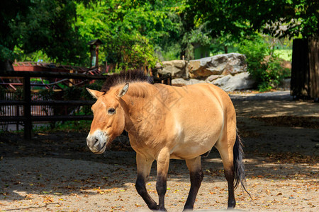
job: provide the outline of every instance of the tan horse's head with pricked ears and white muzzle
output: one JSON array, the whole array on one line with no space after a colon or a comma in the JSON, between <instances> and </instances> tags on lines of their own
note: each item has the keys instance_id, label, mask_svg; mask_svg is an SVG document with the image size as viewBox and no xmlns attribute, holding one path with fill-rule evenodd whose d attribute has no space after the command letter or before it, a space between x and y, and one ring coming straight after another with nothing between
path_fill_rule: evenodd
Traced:
<instances>
[{"instance_id":1,"label":"tan horse's head with pricked ears and white muzzle","mask_svg":"<svg viewBox=\"0 0 319 212\"><path fill-rule=\"evenodd\" d=\"M128 83L125 86L111 88L107 93L86 89L97 99L91 107L94 118L86 143L93 153L101 154L107 144L124 130L125 112L121 106L121 98L128 91Z\"/></svg>"}]
</instances>

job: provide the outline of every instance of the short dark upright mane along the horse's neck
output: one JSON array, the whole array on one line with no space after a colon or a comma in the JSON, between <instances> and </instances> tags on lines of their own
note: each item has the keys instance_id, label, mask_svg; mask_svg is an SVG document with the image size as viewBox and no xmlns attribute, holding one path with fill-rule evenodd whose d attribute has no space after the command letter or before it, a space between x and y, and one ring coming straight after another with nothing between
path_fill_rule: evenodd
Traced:
<instances>
[{"instance_id":1,"label":"short dark upright mane along the horse's neck","mask_svg":"<svg viewBox=\"0 0 319 212\"><path fill-rule=\"evenodd\" d=\"M146 82L153 83L150 76L146 76L144 71L121 71L109 76L101 88L101 92L106 93L111 87L123 83Z\"/></svg>"}]
</instances>

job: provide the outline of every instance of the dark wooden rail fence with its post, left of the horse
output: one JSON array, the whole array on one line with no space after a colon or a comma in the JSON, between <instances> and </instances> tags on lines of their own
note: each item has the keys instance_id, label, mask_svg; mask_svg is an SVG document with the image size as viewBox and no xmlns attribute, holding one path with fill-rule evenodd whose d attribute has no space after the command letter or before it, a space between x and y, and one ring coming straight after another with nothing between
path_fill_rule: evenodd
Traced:
<instances>
[{"instance_id":1,"label":"dark wooden rail fence with its post, left of the horse","mask_svg":"<svg viewBox=\"0 0 319 212\"><path fill-rule=\"evenodd\" d=\"M83 73L54 73L54 72L35 72L35 71L0 71L0 77L18 77L23 78L23 100L22 101L9 101L0 100L0 105L22 105L23 116L1 116L0 122L23 122L24 123L24 138L31 139L32 135L32 122L43 121L65 121L65 120L89 120L93 116L89 115L68 115L68 116L32 116L31 105L92 105L94 101L32 101L30 78L72 78L82 80L106 80L108 76L103 75L88 75Z\"/></svg>"}]
</instances>

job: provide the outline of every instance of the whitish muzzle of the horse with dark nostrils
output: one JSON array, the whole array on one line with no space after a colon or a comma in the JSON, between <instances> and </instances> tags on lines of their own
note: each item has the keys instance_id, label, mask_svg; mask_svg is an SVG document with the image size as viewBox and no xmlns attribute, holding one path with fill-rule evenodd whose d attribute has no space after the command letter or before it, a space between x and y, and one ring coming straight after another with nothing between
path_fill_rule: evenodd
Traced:
<instances>
[{"instance_id":1,"label":"whitish muzzle of the horse with dark nostrils","mask_svg":"<svg viewBox=\"0 0 319 212\"><path fill-rule=\"evenodd\" d=\"M86 137L86 144L90 150L95 154L101 154L106 150L108 143L108 136L100 130L94 131Z\"/></svg>"}]
</instances>

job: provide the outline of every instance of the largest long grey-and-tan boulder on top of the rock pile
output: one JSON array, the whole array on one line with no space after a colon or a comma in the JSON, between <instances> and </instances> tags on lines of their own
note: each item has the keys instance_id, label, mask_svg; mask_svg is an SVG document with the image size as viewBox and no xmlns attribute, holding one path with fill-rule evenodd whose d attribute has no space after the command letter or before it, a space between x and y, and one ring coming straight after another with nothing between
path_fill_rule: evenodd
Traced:
<instances>
[{"instance_id":1,"label":"largest long grey-and-tan boulder on top of the rock pile","mask_svg":"<svg viewBox=\"0 0 319 212\"><path fill-rule=\"evenodd\" d=\"M191 78L207 78L211 75L235 75L247 70L244 54L218 54L189 61L189 76Z\"/></svg>"}]
</instances>

